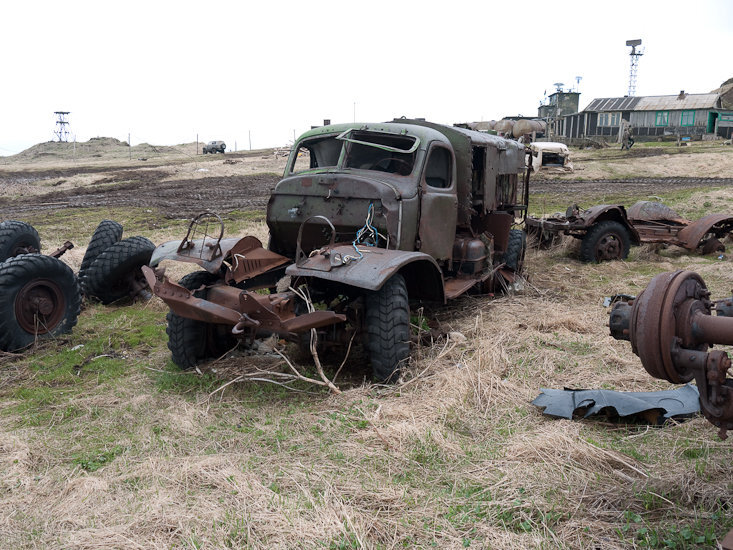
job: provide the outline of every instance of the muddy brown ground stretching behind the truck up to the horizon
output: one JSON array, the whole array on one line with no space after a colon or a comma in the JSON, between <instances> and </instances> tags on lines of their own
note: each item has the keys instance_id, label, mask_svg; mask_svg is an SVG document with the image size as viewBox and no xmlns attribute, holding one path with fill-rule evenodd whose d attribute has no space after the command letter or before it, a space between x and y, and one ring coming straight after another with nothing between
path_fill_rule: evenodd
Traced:
<instances>
[{"instance_id":1,"label":"muddy brown ground stretching behind the truck up to the horizon","mask_svg":"<svg viewBox=\"0 0 733 550\"><path fill-rule=\"evenodd\" d=\"M104 160L49 157L41 145L35 146L39 149L35 153L31 149L17 158L6 157L0 162L0 216L136 206L156 209L169 218L187 218L205 209L218 213L262 209L287 160L274 150L195 156L194 147L188 144L156 148L160 151L149 162L134 159L125 163L117 151L118 143L108 144L112 152ZM56 149L68 144L46 145ZM608 194L654 196L670 190L733 185L733 149L718 144L700 144L690 153L688 147L679 149L575 151L574 173L535 174L531 193L573 197L582 203ZM102 155L99 151L106 149L98 145L94 151Z\"/></svg>"}]
</instances>

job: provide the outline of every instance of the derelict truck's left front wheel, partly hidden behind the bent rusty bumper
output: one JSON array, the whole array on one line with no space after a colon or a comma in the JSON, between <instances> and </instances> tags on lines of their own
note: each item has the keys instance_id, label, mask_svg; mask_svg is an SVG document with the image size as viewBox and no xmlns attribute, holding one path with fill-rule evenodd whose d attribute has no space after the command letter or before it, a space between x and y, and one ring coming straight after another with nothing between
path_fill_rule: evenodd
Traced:
<instances>
[{"instance_id":1,"label":"derelict truck's left front wheel, partly hidden behind the bent rusty bumper","mask_svg":"<svg viewBox=\"0 0 733 550\"><path fill-rule=\"evenodd\" d=\"M218 280L216 275L208 271L189 273L178 284L197 290L202 285L209 285ZM194 292L196 298L206 298L207 289ZM215 325L195 319L188 319L168 312L168 349L171 350L173 362L182 369L189 369L207 359L216 359L234 347L237 340L232 336L231 327Z\"/></svg>"}]
</instances>

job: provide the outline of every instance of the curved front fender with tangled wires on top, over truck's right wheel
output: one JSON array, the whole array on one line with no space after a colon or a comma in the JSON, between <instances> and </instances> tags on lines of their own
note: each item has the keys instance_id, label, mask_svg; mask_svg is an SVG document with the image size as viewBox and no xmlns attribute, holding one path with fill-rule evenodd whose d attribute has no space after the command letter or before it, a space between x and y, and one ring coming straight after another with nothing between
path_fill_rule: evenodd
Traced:
<instances>
[{"instance_id":1,"label":"curved front fender with tangled wires on top, over truck's right wheel","mask_svg":"<svg viewBox=\"0 0 733 550\"><path fill-rule=\"evenodd\" d=\"M357 251L353 245L339 245L322 249L285 270L291 277L313 277L370 291L382 288L395 273L405 277L410 298L445 302L440 267L423 252L367 246L359 246Z\"/></svg>"}]
</instances>

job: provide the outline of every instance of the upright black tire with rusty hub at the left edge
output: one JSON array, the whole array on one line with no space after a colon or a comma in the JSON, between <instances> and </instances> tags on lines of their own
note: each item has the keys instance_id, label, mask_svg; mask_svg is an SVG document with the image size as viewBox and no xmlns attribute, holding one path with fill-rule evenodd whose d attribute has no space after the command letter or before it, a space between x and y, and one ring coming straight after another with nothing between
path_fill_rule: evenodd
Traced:
<instances>
[{"instance_id":1,"label":"upright black tire with rusty hub at the left edge","mask_svg":"<svg viewBox=\"0 0 733 550\"><path fill-rule=\"evenodd\" d=\"M0 349L18 351L36 339L71 331L81 294L61 260L22 254L0 264Z\"/></svg>"}]
</instances>

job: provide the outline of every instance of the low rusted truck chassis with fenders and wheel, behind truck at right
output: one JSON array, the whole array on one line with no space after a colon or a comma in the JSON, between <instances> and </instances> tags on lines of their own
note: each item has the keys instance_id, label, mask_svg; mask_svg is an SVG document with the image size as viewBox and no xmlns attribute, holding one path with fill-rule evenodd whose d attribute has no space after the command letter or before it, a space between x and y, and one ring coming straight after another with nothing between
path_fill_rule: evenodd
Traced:
<instances>
[{"instance_id":1,"label":"low rusted truck chassis with fenders and wheel, behind truck at right","mask_svg":"<svg viewBox=\"0 0 733 550\"><path fill-rule=\"evenodd\" d=\"M643 243L699 249L702 254L723 252L721 239L733 230L733 216L728 214L709 214L690 221L651 201L639 201L628 211L621 205L602 204L582 211L574 205L565 216L528 216L526 223L528 233L540 246L556 242L563 234L580 239L580 257L586 262L624 259L632 244Z\"/></svg>"}]
</instances>

